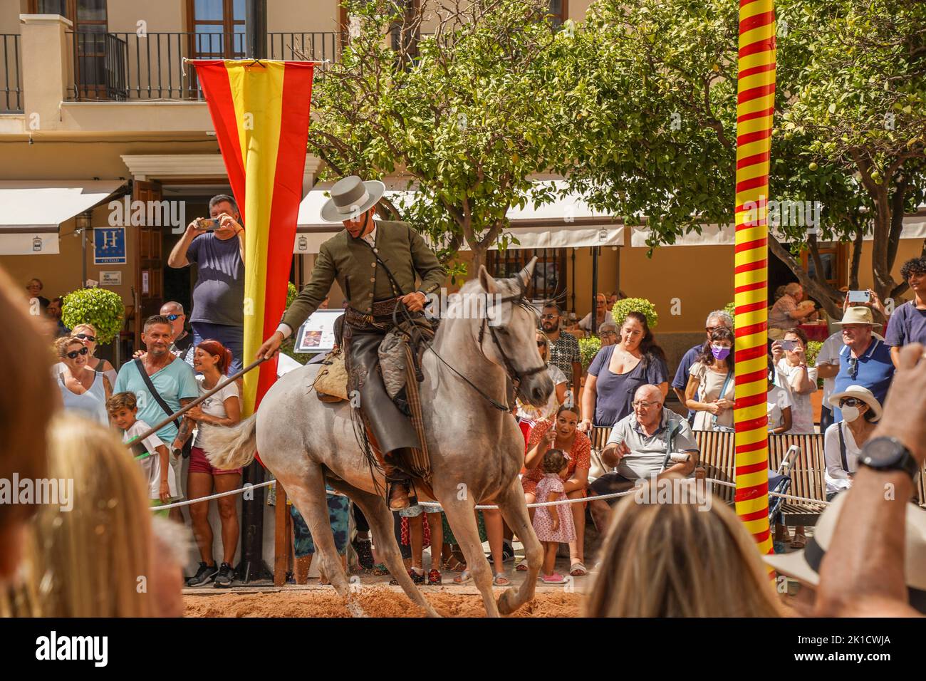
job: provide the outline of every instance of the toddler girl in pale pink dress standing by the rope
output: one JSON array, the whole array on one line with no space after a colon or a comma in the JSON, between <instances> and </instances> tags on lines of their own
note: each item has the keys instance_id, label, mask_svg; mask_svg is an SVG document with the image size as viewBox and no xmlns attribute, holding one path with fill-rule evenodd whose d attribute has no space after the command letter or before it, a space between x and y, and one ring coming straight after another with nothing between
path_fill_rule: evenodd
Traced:
<instances>
[{"instance_id":1,"label":"toddler girl in pale pink dress standing by the rope","mask_svg":"<svg viewBox=\"0 0 926 681\"><path fill-rule=\"evenodd\" d=\"M559 501L566 498L563 491L563 476L566 475L569 460L562 449L550 449L544 454L541 468L544 477L537 483L537 503ZM557 549L561 542L570 542L576 538L575 524L569 506L541 506L533 514L533 529L537 538L544 544L544 574L540 581L544 584L566 584L562 574L555 572Z\"/></svg>"}]
</instances>

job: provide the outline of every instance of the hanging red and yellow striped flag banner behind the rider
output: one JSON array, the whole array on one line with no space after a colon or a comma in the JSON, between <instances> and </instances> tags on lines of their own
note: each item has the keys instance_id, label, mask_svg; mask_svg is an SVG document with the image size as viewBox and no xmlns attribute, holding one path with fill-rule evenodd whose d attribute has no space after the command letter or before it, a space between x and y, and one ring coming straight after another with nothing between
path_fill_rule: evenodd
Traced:
<instances>
[{"instance_id":1,"label":"hanging red and yellow striped flag banner behind the rider","mask_svg":"<svg viewBox=\"0 0 926 681\"><path fill-rule=\"evenodd\" d=\"M193 60L244 223L244 358L280 323L306 168L309 62ZM276 359L244 374L244 415L277 377Z\"/></svg>"}]
</instances>

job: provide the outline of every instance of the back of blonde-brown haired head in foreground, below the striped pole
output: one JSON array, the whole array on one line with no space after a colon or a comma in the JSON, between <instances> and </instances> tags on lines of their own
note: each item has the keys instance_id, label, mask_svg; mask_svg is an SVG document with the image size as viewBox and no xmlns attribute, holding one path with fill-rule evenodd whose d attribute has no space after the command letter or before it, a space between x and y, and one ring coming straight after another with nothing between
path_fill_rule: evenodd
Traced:
<instances>
[{"instance_id":1,"label":"back of blonde-brown haired head in foreground, below the striped pole","mask_svg":"<svg viewBox=\"0 0 926 681\"><path fill-rule=\"evenodd\" d=\"M670 475L657 482L668 495L644 487L620 500L586 617L782 616L756 542L720 499L695 500L695 484Z\"/></svg>"}]
</instances>

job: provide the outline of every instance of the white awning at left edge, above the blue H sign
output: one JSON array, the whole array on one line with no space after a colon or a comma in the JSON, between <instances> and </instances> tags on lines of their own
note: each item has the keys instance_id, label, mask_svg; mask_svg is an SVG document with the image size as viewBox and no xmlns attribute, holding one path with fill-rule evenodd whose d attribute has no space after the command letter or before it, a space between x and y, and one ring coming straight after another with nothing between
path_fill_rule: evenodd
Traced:
<instances>
[{"instance_id":1,"label":"white awning at left edge, above the blue H sign","mask_svg":"<svg viewBox=\"0 0 926 681\"><path fill-rule=\"evenodd\" d=\"M0 181L0 255L58 252L58 226L105 201L122 180Z\"/></svg>"}]
</instances>

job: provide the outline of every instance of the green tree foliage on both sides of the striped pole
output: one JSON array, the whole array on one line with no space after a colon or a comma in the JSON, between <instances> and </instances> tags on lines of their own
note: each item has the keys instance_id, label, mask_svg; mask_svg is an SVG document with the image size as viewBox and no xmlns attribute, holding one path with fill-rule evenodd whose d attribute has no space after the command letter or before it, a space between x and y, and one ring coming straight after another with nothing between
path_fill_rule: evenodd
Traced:
<instances>
[{"instance_id":1,"label":"green tree foliage on both sides of the striped pole","mask_svg":"<svg viewBox=\"0 0 926 681\"><path fill-rule=\"evenodd\" d=\"M886 246L874 288L897 295L903 209L926 191L926 3L780 0L776 13L769 197L819 201L821 214L819 234L789 222L770 247L835 314L842 296L793 256L873 233ZM566 58L595 104L563 140L572 187L628 224L645 217L652 247L732 223L737 4L599 0L576 41Z\"/></svg>"}]
</instances>

